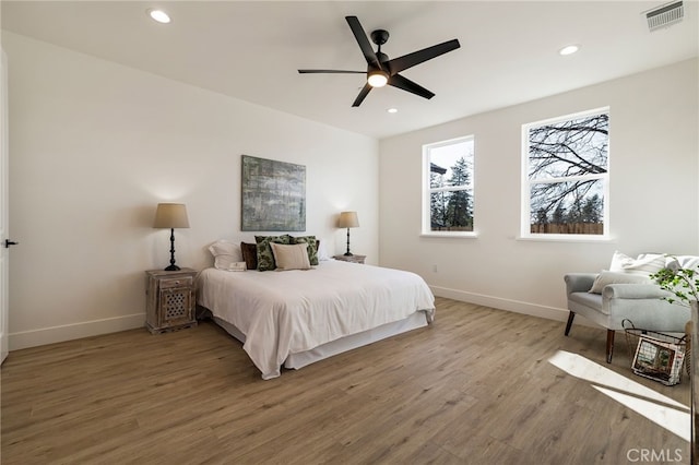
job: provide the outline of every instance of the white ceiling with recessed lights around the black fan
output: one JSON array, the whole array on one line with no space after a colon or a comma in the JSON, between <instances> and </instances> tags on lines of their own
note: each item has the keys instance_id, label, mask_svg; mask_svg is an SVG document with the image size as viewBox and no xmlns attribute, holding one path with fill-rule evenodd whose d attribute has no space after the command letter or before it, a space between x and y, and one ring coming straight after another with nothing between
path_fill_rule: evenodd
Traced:
<instances>
[{"instance_id":1,"label":"white ceiling with recessed lights around the black fan","mask_svg":"<svg viewBox=\"0 0 699 465\"><path fill-rule=\"evenodd\" d=\"M642 13L662 3L2 0L0 13L13 33L380 139L697 57L698 1L650 33ZM173 22L153 22L154 7ZM458 38L401 73L436 96L383 87L352 108L362 74L298 74L366 69L345 15L388 29L391 58ZM559 56L568 44L580 51Z\"/></svg>"}]
</instances>

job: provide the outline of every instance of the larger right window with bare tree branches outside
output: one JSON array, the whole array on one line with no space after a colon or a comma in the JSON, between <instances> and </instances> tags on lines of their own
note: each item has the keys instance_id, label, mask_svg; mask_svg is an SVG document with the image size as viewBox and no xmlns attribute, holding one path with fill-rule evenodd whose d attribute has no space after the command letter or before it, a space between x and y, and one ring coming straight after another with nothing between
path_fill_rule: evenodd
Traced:
<instances>
[{"instance_id":1,"label":"larger right window with bare tree branches outside","mask_svg":"<svg viewBox=\"0 0 699 465\"><path fill-rule=\"evenodd\" d=\"M522 236L608 234L609 110L522 127Z\"/></svg>"}]
</instances>

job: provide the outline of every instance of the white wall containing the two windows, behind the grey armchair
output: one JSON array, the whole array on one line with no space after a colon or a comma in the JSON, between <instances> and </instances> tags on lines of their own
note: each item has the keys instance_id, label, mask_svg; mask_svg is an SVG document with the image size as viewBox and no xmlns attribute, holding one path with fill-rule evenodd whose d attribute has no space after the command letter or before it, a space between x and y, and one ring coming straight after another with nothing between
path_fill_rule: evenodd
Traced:
<instances>
[{"instance_id":1,"label":"white wall containing the two windows, behind the grey armchair","mask_svg":"<svg viewBox=\"0 0 699 465\"><path fill-rule=\"evenodd\" d=\"M381 265L419 273L437 295L564 319L566 272L597 272L615 250L699 254L697 69L694 59L381 141ZM613 240L518 240L521 126L604 106ZM422 146L467 134L478 238L420 237Z\"/></svg>"}]
</instances>

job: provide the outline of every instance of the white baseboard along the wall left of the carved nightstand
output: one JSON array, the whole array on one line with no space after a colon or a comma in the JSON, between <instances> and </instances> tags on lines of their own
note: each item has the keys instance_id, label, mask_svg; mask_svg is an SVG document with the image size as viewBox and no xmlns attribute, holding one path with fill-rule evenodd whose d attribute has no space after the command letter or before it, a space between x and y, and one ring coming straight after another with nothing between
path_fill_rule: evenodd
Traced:
<instances>
[{"instance_id":1,"label":"white baseboard along the wall left of the carved nightstand","mask_svg":"<svg viewBox=\"0 0 699 465\"><path fill-rule=\"evenodd\" d=\"M63 341L79 339L99 334L117 333L119 331L143 327L144 324L145 313L134 313L125 317L106 318L103 320L10 333L10 350L62 343Z\"/></svg>"}]
</instances>

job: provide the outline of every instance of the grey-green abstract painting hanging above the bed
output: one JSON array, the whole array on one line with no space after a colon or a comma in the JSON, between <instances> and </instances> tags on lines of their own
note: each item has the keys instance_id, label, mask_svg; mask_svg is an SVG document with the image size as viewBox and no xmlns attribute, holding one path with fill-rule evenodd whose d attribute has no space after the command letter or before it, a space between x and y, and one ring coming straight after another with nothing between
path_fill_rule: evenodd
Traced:
<instances>
[{"instance_id":1,"label":"grey-green abstract painting hanging above the bed","mask_svg":"<svg viewBox=\"0 0 699 465\"><path fill-rule=\"evenodd\" d=\"M306 230L306 166L242 155L241 172L241 230Z\"/></svg>"}]
</instances>

